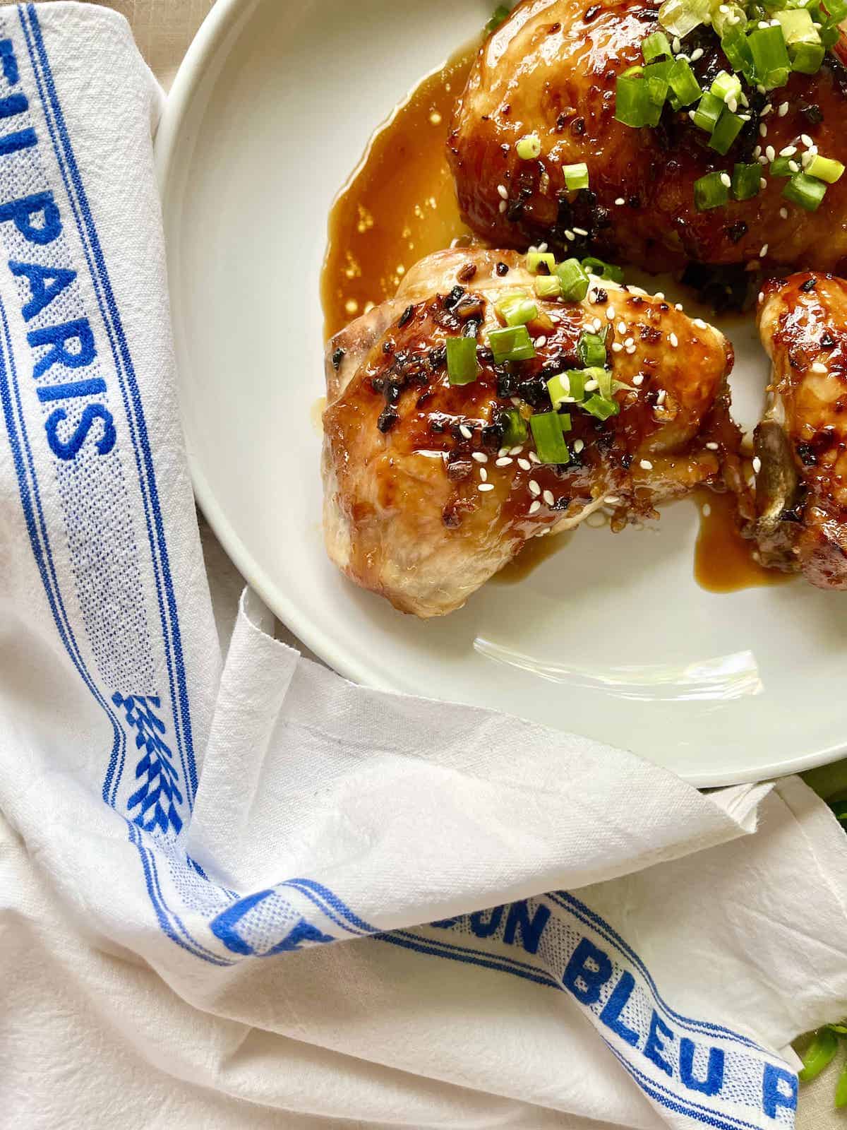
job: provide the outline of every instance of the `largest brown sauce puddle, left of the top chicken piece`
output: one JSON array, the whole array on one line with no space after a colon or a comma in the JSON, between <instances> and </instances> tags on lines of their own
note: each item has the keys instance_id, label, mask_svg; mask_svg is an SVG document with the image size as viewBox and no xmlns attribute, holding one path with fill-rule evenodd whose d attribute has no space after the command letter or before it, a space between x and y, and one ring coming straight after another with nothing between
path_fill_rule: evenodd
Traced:
<instances>
[{"instance_id":1,"label":"largest brown sauce puddle, left of the top chicken piece","mask_svg":"<svg viewBox=\"0 0 847 1130\"><path fill-rule=\"evenodd\" d=\"M475 43L463 49L398 106L332 206L321 278L328 338L393 297L419 259L470 234L445 147L477 50Z\"/></svg>"}]
</instances>

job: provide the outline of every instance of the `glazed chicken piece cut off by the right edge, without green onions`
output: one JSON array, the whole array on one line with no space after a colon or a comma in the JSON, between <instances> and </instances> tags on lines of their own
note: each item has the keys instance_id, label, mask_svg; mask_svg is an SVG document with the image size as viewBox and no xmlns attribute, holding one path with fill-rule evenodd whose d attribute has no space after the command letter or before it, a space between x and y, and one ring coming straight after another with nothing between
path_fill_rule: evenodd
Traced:
<instances>
[{"instance_id":1,"label":"glazed chicken piece cut off by the right edge, without green onions","mask_svg":"<svg viewBox=\"0 0 847 1130\"><path fill-rule=\"evenodd\" d=\"M759 332L772 362L756 431L762 563L847 589L847 282L811 271L771 280Z\"/></svg>"}]
</instances>

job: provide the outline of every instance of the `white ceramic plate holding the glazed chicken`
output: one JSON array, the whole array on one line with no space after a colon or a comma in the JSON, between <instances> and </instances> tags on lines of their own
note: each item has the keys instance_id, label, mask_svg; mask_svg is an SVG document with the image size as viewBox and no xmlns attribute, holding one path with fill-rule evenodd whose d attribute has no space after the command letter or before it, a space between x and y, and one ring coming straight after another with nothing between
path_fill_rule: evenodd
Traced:
<instances>
[{"instance_id":1,"label":"white ceramic plate holding the glazed chicken","mask_svg":"<svg viewBox=\"0 0 847 1130\"><path fill-rule=\"evenodd\" d=\"M625 746L699 785L845 751L847 596L692 579L693 504L579 531L443 620L361 592L321 539L326 217L375 127L492 0L219 0L158 137L180 397L200 504L277 615L343 675ZM731 336L742 418L765 363Z\"/></svg>"}]
</instances>

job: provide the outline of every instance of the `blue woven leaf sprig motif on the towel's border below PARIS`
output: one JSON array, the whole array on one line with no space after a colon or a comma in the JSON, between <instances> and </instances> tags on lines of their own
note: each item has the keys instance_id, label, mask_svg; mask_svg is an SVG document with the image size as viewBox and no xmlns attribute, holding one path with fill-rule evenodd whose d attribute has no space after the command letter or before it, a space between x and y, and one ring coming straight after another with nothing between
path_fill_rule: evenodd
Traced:
<instances>
[{"instance_id":1,"label":"blue woven leaf sprig motif on the towel's border below PARIS","mask_svg":"<svg viewBox=\"0 0 847 1130\"><path fill-rule=\"evenodd\" d=\"M180 776L174 768L171 749L165 744L165 723L155 713L160 706L158 695L112 695L115 706L123 706L126 721L136 734L136 748L143 749L143 756L136 766L136 779L141 780L139 788L126 801L126 808L138 812L132 817L145 832L159 829L167 832L173 828L178 833L182 819L176 810L182 805L182 793L178 789Z\"/></svg>"}]
</instances>

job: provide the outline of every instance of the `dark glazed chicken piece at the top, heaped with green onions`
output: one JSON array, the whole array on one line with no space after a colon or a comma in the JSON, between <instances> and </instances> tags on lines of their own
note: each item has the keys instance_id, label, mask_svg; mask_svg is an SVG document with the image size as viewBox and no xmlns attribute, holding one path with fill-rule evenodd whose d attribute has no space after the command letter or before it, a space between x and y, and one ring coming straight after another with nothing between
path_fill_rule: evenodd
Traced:
<instances>
[{"instance_id":1,"label":"dark glazed chicken piece at the top, heaped with green onions","mask_svg":"<svg viewBox=\"0 0 847 1130\"><path fill-rule=\"evenodd\" d=\"M684 111L666 106L656 129L614 119L617 76L641 62L640 43L656 31L657 9L644 0L523 0L486 41L448 140L468 223L494 246L547 240L571 254L591 251L648 270L686 260L745 263L766 246L766 263L839 270L847 255L847 177L815 212L783 199L781 177L769 177L752 200L702 212L693 202L693 182L705 173L754 162L757 146L778 154L803 133L847 164L847 71L839 59L830 52L817 75L795 73L767 97L750 92L743 112L751 120L721 157ZM692 67L708 87L731 68L708 29L687 36L689 54L697 47L704 55ZM760 119L768 102L772 112ZM521 160L515 142L530 132L541 140L541 156ZM567 192L562 166L583 160L591 190Z\"/></svg>"}]
</instances>

